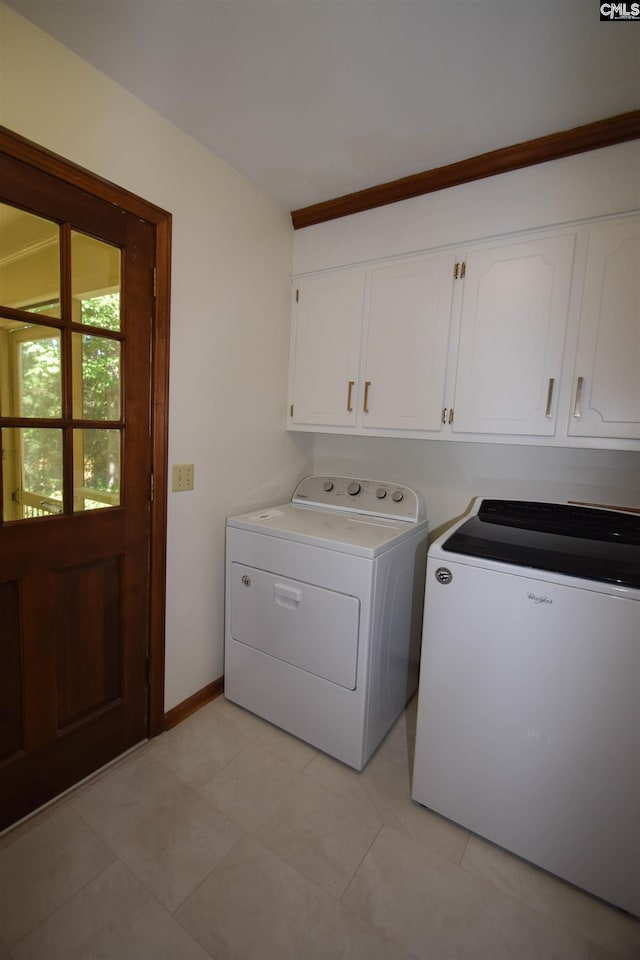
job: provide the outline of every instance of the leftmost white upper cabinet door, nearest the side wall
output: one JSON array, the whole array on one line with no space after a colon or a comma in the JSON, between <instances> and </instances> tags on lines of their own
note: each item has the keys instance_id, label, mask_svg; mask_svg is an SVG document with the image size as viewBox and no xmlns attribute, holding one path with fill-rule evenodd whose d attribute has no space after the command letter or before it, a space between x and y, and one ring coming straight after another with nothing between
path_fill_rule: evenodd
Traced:
<instances>
[{"instance_id":1,"label":"leftmost white upper cabinet door, nearest the side wall","mask_svg":"<svg viewBox=\"0 0 640 960\"><path fill-rule=\"evenodd\" d=\"M292 424L353 426L364 271L308 277L297 284L292 329Z\"/></svg>"}]
</instances>

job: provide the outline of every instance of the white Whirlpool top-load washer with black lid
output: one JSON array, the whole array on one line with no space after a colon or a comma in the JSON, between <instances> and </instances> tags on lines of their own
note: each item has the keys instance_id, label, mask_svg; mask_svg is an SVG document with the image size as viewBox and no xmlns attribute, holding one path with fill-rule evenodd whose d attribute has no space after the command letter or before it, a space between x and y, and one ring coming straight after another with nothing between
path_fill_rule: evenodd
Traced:
<instances>
[{"instance_id":1,"label":"white Whirlpool top-load washer with black lid","mask_svg":"<svg viewBox=\"0 0 640 960\"><path fill-rule=\"evenodd\" d=\"M640 516L479 500L429 549L413 798L640 915Z\"/></svg>"}]
</instances>

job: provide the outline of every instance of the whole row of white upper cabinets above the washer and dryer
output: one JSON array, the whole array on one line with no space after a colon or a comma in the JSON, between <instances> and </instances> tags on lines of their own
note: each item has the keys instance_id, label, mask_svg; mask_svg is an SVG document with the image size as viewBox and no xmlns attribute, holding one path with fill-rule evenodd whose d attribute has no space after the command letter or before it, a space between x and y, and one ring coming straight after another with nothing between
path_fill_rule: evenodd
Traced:
<instances>
[{"instance_id":1,"label":"whole row of white upper cabinets above the washer and dryer","mask_svg":"<svg viewBox=\"0 0 640 960\"><path fill-rule=\"evenodd\" d=\"M299 278L288 427L638 449L639 223Z\"/></svg>"}]
</instances>

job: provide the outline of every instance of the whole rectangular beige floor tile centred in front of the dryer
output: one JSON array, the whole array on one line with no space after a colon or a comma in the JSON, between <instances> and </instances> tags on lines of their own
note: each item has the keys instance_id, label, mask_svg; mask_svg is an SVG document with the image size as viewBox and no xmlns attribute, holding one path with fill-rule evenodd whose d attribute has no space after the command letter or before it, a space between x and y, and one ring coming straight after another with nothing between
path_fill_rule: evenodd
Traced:
<instances>
[{"instance_id":1,"label":"whole rectangular beige floor tile centred in front of the dryer","mask_svg":"<svg viewBox=\"0 0 640 960\"><path fill-rule=\"evenodd\" d=\"M201 792L336 898L382 826L257 746L227 764Z\"/></svg>"}]
</instances>

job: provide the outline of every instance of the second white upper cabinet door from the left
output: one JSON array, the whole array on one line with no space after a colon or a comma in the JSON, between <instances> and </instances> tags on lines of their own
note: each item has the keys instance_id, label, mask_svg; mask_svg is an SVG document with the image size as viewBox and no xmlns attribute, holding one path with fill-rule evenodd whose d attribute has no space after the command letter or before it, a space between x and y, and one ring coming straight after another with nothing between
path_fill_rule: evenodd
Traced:
<instances>
[{"instance_id":1,"label":"second white upper cabinet door from the left","mask_svg":"<svg viewBox=\"0 0 640 960\"><path fill-rule=\"evenodd\" d=\"M362 425L440 430L455 258L371 271Z\"/></svg>"}]
</instances>

